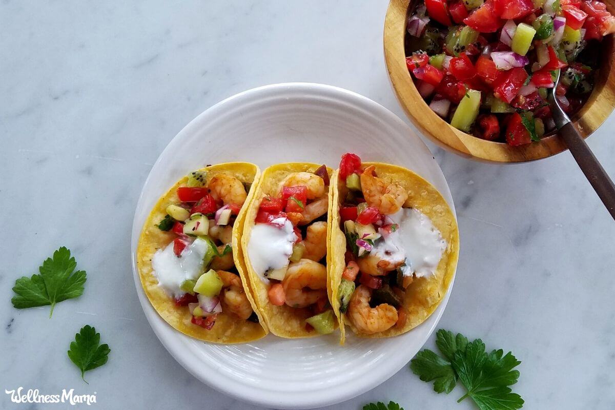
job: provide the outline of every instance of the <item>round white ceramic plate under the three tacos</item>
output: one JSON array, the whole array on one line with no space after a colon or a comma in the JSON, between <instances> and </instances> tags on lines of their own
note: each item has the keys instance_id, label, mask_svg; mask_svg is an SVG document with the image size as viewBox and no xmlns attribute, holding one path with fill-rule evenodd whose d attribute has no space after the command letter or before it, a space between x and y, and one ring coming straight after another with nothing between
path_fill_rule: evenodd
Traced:
<instances>
[{"instance_id":1,"label":"round white ceramic plate under the three tacos","mask_svg":"<svg viewBox=\"0 0 615 410\"><path fill-rule=\"evenodd\" d=\"M387 380L434 331L448 294L421 326L389 339L358 339L350 334L340 347L335 332L311 339L269 335L242 345L205 344L167 325L143 293L135 264L141 227L158 198L188 171L229 161L253 162L261 169L293 161L337 168L339 157L347 151L364 160L416 171L442 192L454 212L442 170L415 132L374 101L329 85L276 84L239 93L186 125L154 164L132 227L135 284L162 344L202 382L240 400L273 408L335 404Z\"/></svg>"}]
</instances>

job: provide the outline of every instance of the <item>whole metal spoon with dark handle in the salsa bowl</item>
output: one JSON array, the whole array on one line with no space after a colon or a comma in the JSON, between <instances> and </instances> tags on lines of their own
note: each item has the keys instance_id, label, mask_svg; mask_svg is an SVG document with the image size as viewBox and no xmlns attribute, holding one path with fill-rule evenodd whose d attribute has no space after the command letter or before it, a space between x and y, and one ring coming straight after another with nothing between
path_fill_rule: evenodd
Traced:
<instances>
[{"instance_id":1,"label":"whole metal spoon with dark handle in the salsa bowl","mask_svg":"<svg viewBox=\"0 0 615 410\"><path fill-rule=\"evenodd\" d=\"M574 159L579 168L585 174L585 178L592 184L598 197L605 204L606 209L611 213L613 219L615 219L615 185L611 178L607 175L600 162L593 155L589 146L585 143L585 140L579 135L573 123L570 121L560 104L555 98L555 89L560 82L560 70L556 71L555 85L552 89L549 89L547 99L551 106L551 113L555 126L557 127L557 133L564 140L570 153L573 154Z\"/></svg>"}]
</instances>

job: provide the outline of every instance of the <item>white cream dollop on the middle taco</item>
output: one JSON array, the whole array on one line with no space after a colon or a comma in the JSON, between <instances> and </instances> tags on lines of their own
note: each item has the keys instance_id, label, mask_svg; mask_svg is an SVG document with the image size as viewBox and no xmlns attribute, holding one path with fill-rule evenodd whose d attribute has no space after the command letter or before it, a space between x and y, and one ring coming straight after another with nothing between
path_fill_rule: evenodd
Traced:
<instances>
[{"instance_id":1,"label":"white cream dollop on the middle taco","mask_svg":"<svg viewBox=\"0 0 615 410\"><path fill-rule=\"evenodd\" d=\"M280 269L288 265L293 253L297 235L293 224L287 218L277 218L271 223L257 223L250 232L248 256L256 274L269 283L264 273L269 269Z\"/></svg>"}]
</instances>

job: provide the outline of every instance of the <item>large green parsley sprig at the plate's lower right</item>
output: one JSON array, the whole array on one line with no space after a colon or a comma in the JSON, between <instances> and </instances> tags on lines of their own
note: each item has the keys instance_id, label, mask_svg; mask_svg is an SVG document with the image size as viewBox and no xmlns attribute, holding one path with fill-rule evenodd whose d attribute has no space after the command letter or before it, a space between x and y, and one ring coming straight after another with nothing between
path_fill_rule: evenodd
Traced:
<instances>
[{"instance_id":1,"label":"large green parsley sprig at the plate's lower right","mask_svg":"<svg viewBox=\"0 0 615 410\"><path fill-rule=\"evenodd\" d=\"M469 342L465 336L438 330L436 345L444 358L424 349L411 360L410 368L421 380L434 381L435 392L450 393L458 379L467 393L458 402L471 398L480 410L515 410L523 399L510 385L517 383L520 365L512 353L502 349L487 353L482 340Z\"/></svg>"}]
</instances>

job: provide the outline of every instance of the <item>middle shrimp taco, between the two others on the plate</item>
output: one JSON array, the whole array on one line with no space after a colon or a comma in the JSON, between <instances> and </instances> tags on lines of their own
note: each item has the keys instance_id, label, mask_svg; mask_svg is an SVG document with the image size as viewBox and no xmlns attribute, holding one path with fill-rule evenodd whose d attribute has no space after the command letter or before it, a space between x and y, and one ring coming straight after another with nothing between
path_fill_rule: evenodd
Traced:
<instances>
[{"instance_id":1,"label":"middle shrimp taco, between the two others on the plate","mask_svg":"<svg viewBox=\"0 0 615 410\"><path fill-rule=\"evenodd\" d=\"M256 307L280 337L333 332L327 247L325 165L292 163L263 171L245 216L241 245Z\"/></svg>"}]
</instances>

